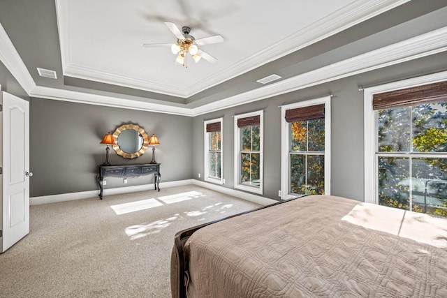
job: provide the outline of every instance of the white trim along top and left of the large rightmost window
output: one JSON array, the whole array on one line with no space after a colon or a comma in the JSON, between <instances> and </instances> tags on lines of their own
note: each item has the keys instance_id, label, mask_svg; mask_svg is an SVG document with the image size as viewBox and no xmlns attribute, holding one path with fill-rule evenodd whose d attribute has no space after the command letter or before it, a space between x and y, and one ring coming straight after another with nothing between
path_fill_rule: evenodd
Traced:
<instances>
[{"instance_id":1,"label":"white trim along top and left of the large rightmost window","mask_svg":"<svg viewBox=\"0 0 447 298\"><path fill-rule=\"evenodd\" d=\"M372 110L372 97L374 94L406 89L425 84L432 84L447 80L447 71L413 77L407 80L391 82L364 89L364 135L365 135L365 202L379 204L376 185L376 146L377 125L376 111Z\"/></svg>"}]
</instances>

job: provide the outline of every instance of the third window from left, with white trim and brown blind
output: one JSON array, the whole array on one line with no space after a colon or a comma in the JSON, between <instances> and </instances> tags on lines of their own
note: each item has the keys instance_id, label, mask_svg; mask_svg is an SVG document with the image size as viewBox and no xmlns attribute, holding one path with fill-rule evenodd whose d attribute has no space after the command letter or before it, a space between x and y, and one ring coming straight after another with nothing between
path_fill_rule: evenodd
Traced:
<instances>
[{"instance_id":1,"label":"third window from left, with white trim and brown blind","mask_svg":"<svg viewBox=\"0 0 447 298\"><path fill-rule=\"evenodd\" d=\"M330 96L281 112L281 198L330 194Z\"/></svg>"}]
</instances>

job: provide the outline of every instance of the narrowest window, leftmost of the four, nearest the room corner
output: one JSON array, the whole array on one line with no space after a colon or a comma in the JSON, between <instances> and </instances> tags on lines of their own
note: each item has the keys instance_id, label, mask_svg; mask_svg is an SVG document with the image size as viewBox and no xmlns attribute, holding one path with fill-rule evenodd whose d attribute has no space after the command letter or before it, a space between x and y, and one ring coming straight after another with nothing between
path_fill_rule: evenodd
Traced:
<instances>
[{"instance_id":1,"label":"narrowest window, leftmost of the four, nearest the room corner","mask_svg":"<svg viewBox=\"0 0 447 298\"><path fill-rule=\"evenodd\" d=\"M222 118L204 122L205 181L223 184Z\"/></svg>"}]
</instances>

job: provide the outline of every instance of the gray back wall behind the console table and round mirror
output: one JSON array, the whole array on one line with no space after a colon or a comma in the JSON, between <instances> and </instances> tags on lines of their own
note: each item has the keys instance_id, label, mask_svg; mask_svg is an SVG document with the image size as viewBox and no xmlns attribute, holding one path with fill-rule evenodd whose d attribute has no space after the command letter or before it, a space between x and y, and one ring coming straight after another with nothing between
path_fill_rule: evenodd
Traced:
<instances>
[{"instance_id":1,"label":"gray back wall behind the console table and round mirror","mask_svg":"<svg viewBox=\"0 0 447 298\"><path fill-rule=\"evenodd\" d=\"M30 196L75 193L98 189L97 165L105 161L105 133L122 124L138 124L148 135L155 133L160 146L155 158L161 163L161 181L191 179L192 119L115 107L85 105L43 98L30 102L30 168L34 176ZM126 159L110 149L112 165L149 163L152 147L138 158ZM126 186L147 184L152 176L128 179ZM105 188L124 186L108 178Z\"/></svg>"}]
</instances>

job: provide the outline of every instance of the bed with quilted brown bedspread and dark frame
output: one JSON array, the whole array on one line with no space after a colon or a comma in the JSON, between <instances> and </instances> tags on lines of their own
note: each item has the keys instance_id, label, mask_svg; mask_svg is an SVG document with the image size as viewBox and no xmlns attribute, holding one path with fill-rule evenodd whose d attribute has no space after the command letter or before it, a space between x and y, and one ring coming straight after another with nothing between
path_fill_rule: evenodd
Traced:
<instances>
[{"instance_id":1,"label":"bed with quilted brown bedspread and dark frame","mask_svg":"<svg viewBox=\"0 0 447 298\"><path fill-rule=\"evenodd\" d=\"M447 218L329 195L175 235L173 297L447 297Z\"/></svg>"}]
</instances>

